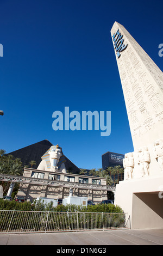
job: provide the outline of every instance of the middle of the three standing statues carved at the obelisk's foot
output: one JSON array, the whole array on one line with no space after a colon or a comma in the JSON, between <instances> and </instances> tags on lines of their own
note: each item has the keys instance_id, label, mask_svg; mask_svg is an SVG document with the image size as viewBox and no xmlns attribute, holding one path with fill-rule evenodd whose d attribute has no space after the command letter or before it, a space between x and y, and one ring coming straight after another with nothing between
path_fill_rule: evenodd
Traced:
<instances>
[{"instance_id":1,"label":"middle of the three standing statues carved at the obelisk's foot","mask_svg":"<svg viewBox=\"0 0 163 256\"><path fill-rule=\"evenodd\" d=\"M150 155L148 152L148 148L144 147L138 150L137 153L138 157L138 164L140 166L141 170L141 175L143 176L148 176L149 175L149 163L151 162Z\"/></svg>"}]
</instances>

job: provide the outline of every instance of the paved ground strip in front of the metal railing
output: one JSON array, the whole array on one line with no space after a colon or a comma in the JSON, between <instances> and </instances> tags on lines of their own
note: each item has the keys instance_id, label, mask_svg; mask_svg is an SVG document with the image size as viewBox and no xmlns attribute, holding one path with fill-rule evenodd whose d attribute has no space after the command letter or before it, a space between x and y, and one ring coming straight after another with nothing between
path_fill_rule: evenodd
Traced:
<instances>
[{"instance_id":1,"label":"paved ground strip in front of the metal railing","mask_svg":"<svg viewBox=\"0 0 163 256\"><path fill-rule=\"evenodd\" d=\"M163 229L1 234L0 245L163 245Z\"/></svg>"}]
</instances>

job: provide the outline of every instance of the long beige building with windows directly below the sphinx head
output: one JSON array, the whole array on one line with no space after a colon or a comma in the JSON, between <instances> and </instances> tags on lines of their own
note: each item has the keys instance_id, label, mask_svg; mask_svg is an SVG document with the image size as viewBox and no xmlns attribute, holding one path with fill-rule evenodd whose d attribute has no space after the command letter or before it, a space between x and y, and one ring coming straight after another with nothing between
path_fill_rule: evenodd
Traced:
<instances>
[{"instance_id":1,"label":"long beige building with windows directly below the sphinx head","mask_svg":"<svg viewBox=\"0 0 163 256\"><path fill-rule=\"evenodd\" d=\"M73 196L87 197L93 203L108 199L107 191L115 187L106 186L106 179L70 173L43 171L24 168L24 183L20 185L17 196L33 201L37 197L64 199L73 188Z\"/></svg>"}]
</instances>

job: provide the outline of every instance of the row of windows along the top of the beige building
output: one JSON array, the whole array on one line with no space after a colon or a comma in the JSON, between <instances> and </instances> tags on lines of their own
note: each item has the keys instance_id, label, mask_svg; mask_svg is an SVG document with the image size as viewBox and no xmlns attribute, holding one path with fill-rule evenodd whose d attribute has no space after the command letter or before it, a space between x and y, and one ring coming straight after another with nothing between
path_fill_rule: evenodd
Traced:
<instances>
[{"instance_id":1,"label":"row of windows along the top of the beige building","mask_svg":"<svg viewBox=\"0 0 163 256\"><path fill-rule=\"evenodd\" d=\"M31 177L32 178L43 179L44 178L44 173L32 172ZM60 175L49 174L48 179L49 180L60 180ZM75 178L73 176L65 175L64 181L74 182ZM79 183L88 184L88 182L89 182L88 178L81 178L81 177L79 177ZM92 184L101 185L101 180L92 179Z\"/></svg>"}]
</instances>

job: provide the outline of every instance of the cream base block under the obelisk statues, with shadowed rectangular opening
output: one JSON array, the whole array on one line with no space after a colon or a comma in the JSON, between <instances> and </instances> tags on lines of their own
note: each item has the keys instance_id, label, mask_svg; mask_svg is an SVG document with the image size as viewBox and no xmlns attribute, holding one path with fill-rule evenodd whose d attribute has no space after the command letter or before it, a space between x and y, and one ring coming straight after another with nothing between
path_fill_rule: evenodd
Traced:
<instances>
[{"instance_id":1,"label":"cream base block under the obelisk statues, with shadowed rectangular opening","mask_svg":"<svg viewBox=\"0 0 163 256\"><path fill-rule=\"evenodd\" d=\"M163 228L163 174L120 181L115 205L130 216L131 228Z\"/></svg>"}]
</instances>

